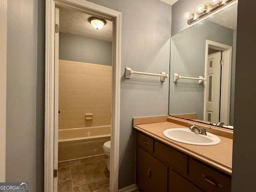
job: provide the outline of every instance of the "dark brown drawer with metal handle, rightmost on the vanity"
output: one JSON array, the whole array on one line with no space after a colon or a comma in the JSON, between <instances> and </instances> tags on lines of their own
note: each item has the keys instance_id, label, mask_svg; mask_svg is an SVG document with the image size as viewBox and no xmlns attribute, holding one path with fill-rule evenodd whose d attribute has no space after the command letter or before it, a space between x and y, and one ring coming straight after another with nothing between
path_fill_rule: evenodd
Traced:
<instances>
[{"instance_id":1,"label":"dark brown drawer with metal handle, rightmost on the vanity","mask_svg":"<svg viewBox=\"0 0 256 192\"><path fill-rule=\"evenodd\" d=\"M231 178L192 158L188 162L188 174L191 179L212 192L231 191Z\"/></svg>"}]
</instances>

